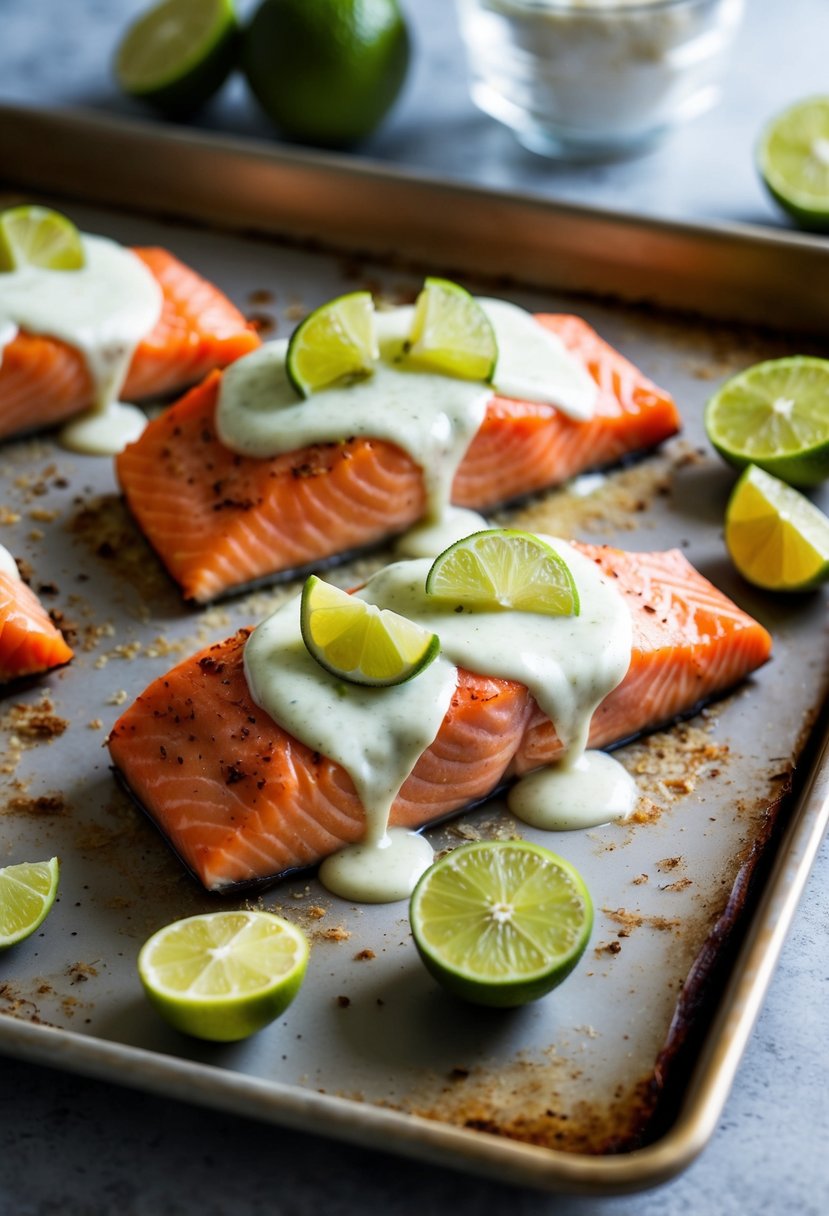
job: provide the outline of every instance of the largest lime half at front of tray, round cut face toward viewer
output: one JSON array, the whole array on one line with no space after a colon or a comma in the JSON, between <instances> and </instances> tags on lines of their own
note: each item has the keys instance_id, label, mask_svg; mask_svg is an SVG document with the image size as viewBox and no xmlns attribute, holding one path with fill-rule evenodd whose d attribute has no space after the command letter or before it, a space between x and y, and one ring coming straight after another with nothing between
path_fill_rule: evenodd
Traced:
<instances>
[{"instance_id":1,"label":"largest lime half at front of tray, round cut face toward viewer","mask_svg":"<svg viewBox=\"0 0 829 1216\"><path fill-rule=\"evenodd\" d=\"M581 877L526 840L462 845L432 866L410 905L421 958L476 1004L536 1001L583 955L593 905Z\"/></svg>"}]
</instances>

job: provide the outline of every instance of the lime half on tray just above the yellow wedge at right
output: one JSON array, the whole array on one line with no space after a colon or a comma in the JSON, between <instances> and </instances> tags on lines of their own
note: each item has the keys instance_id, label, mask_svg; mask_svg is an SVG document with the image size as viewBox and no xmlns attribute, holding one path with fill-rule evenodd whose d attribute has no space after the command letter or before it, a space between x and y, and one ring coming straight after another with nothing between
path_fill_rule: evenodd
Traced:
<instances>
[{"instance_id":1,"label":"lime half on tray just above the yellow wedge at right","mask_svg":"<svg viewBox=\"0 0 829 1216\"><path fill-rule=\"evenodd\" d=\"M791 485L818 485L829 477L829 359L755 364L711 398L705 429L738 468L758 465Z\"/></svg>"}]
</instances>

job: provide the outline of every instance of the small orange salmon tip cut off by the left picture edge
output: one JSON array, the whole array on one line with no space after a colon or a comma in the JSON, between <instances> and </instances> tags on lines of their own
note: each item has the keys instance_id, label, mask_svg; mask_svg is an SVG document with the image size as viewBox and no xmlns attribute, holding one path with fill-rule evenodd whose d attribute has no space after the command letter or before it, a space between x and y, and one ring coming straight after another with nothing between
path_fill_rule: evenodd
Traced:
<instances>
[{"instance_id":1,"label":"small orange salmon tip cut off by the left picture edge","mask_svg":"<svg viewBox=\"0 0 829 1216\"><path fill-rule=\"evenodd\" d=\"M41 675L72 657L34 591L0 570L0 683Z\"/></svg>"}]
</instances>

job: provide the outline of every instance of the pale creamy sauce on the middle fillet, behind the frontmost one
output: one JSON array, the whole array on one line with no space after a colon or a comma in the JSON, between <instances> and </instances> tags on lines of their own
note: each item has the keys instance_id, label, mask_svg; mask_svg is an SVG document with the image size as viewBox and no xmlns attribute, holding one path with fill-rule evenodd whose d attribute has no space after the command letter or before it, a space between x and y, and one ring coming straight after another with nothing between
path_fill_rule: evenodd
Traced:
<instances>
[{"instance_id":1,"label":"pale creamy sauce on the middle fillet, behind the frontmost one","mask_svg":"<svg viewBox=\"0 0 829 1216\"><path fill-rule=\"evenodd\" d=\"M596 382L564 343L514 304L479 303L497 338L495 392L548 402L577 421L592 417ZM450 496L494 388L408 364L405 348L412 317L412 308L378 313L380 358L373 373L305 400L297 400L286 371L288 343L267 343L224 373L216 429L226 447L258 457L351 437L396 444L421 466L427 494L425 519L412 529L404 548L425 556L485 527L475 512L451 507Z\"/></svg>"}]
</instances>

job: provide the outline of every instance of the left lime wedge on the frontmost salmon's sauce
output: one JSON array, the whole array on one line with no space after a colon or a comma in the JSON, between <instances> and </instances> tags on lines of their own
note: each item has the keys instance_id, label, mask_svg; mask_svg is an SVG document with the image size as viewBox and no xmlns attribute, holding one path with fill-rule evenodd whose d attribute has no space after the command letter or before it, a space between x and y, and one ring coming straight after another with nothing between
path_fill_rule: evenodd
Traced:
<instances>
[{"instance_id":1,"label":"left lime wedge on the frontmost salmon's sauce","mask_svg":"<svg viewBox=\"0 0 829 1216\"><path fill-rule=\"evenodd\" d=\"M303 640L317 663L351 683L404 683L440 652L436 634L311 574L300 606Z\"/></svg>"}]
</instances>

